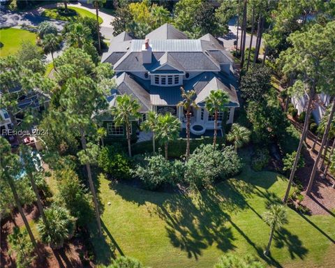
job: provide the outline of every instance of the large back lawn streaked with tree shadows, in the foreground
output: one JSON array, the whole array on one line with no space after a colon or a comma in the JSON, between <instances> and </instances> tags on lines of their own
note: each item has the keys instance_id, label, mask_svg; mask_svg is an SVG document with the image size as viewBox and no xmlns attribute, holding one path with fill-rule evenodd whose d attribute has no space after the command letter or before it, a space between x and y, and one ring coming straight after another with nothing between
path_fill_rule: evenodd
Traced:
<instances>
[{"instance_id":1,"label":"large back lawn streaked with tree shadows, in the foreground","mask_svg":"<svg viewBox=\"0 0 335 268\"><path fill-rule=\"evenodd\" d=\"M261 215L271 200L280 200L287 183L274 172L246 165L236 178L189 195L99 183L107 239L92 241L101 264L123 253L152 268L211 268L220 255L235 251L275 267L332 267L335 218L291 209L290 223L274 237L271 258L262 257L269 227Z\"/></svg>"}]
</instances>

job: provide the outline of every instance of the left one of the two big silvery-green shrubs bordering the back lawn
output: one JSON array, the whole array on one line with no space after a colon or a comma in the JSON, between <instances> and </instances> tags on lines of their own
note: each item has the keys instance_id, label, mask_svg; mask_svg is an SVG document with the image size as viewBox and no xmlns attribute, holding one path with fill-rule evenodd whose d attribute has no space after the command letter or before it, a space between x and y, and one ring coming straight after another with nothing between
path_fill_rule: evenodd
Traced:
<instances>
[{"instance_id":1,"label":"left one of the two big silvery-green shrubs bordering the back lawn","mask_svg":"<svg viewBox=\"0 0 335 268\"><path fill-rule=\"evenodd\" d=\"M162 184L175 185L184 177L184 165L181 161L170 162L161 154L144 158L145 165L137 165L133 176L139 177L147 186L154 190Z\"/></svg>"}]
</instances>

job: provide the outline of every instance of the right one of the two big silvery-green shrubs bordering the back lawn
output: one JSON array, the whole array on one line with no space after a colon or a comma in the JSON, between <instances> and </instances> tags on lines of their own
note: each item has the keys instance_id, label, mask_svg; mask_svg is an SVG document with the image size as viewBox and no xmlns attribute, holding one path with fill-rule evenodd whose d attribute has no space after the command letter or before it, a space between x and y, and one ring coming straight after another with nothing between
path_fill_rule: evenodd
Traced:
<instances>
[{"instance_id":1,"label":"right one of the two big silvery-green shrubs bordering the back lawn","mask_svg":"<svg viewBox=\"0 0 335 268\"><path fill-rule=\"evenodd\" d=\"M233 147L219 151L211 144L202 144L186 163L185 181L193 188L202 188L213 184L218 177L223 179L237 174L240 168L241 161Z\"/></svg>"}]
</instances>

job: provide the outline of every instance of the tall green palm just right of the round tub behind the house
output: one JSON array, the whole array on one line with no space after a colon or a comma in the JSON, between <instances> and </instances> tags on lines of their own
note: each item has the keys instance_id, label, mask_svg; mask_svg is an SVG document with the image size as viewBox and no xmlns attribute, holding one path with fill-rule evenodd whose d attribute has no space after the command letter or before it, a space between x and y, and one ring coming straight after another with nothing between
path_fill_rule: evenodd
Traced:
<instances>
[{"instance_id":1,"label":"tall green palm just right of the round tub behind the house","mask_svg":"<svg viewBox=\"0 0 335 268\"><path fill-rule=\"evenodd\" d=\"M212 90L209 96L205 98L205 107L208 112L214 113L214 138L213 147L216 146L216 136L218 128L218 112L225 110L225 105L229 103L229 96L222 89Z\"/></svg>"}]
</instances>

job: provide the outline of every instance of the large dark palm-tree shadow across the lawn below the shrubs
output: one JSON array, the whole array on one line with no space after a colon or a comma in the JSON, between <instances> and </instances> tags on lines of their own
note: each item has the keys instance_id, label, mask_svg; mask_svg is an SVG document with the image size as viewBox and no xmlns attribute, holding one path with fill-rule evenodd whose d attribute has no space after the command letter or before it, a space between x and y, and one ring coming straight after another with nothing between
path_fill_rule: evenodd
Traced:
<instances>
[{"instance_id":1,"label":"large dark palm-tree shadow across the lawn below the shrubs","mask_svg":"<svg viewBox=\"0 0 335 268\"><path fill-rule=\"evenodd\" d=\"M245 181L230 179L193 194L155 193L133 189L122 184L110 185L127 201L144 205L156 204L155 214L166 225L168 237L173 246L186 251L188 258L198 259L202 251L213 244L226 252L235 248L231 227L225 223L228 213L248 208L246 198L253 193L253 187Z\"/></svg>"}]
</instances>

